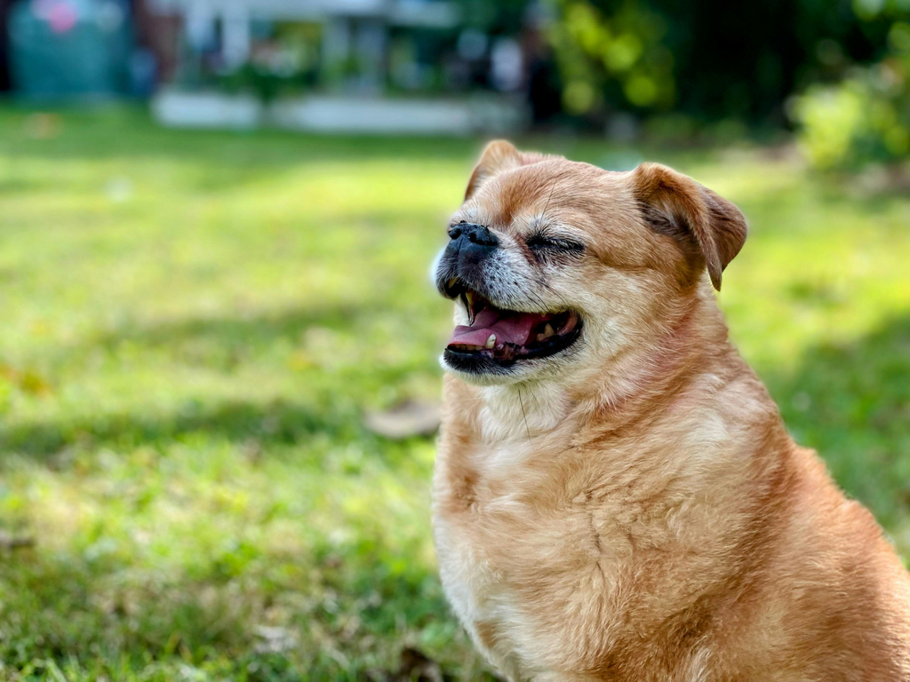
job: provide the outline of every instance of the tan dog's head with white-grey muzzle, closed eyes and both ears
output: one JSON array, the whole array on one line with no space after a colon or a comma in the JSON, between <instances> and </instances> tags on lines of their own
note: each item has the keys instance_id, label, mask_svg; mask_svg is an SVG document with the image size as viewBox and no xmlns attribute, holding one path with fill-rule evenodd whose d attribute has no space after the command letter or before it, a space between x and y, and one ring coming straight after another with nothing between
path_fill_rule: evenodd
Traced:
<instances>
[{"instance_id":1,"label":"tan dog's head with white-grey muzzle, closed eyes and both ears","mask_svg":"<svg viewBox=\"0 0 910 682\"><path fill-rule=\"evenodd\" d=\"M456 301L442 356L480 384L567 376L665 333L687 300L720 289L746 224L670 168L616 173L487 146L436 267Z\"/></svg>"}]
</instances>

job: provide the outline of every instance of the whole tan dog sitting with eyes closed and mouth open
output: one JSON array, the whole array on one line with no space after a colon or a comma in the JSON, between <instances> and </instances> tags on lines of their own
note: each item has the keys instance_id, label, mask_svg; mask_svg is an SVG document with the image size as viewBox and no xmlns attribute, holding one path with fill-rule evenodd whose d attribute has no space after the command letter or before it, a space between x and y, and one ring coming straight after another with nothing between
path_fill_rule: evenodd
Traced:
<instances>
[{"instance_id":1,"label":"whole tan dog sitting with eyes closed and mouth open","mask_svg":"<svg viewBox=\"0 0 910 682\"><path fill-rule=\"evenodd\" d=\"M910 680L910 577L727 339L735 206L494 142L449 234L436 543L503 675Z\"/></svg>"}]
</instances>

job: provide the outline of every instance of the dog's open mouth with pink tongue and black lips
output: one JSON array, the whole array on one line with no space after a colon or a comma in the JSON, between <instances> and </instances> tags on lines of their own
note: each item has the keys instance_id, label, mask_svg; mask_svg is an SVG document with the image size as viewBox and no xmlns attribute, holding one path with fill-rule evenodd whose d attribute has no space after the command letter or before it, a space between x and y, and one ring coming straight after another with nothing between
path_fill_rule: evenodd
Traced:
<instances>
[{"instance_id":1,"label":"dog's open mouth with pink tongue and black lips","mask_svg":"<svg viewBox=\"0 0 910 682\"><path fill-rule=\"evenodd\" d=\"M452 366L475 367L474 361L480 359L509 366L551 356L571 346L581 333L581 317L572 310L547 314L504 310L458 279L450 280L445 293L460 299L469 320L467 326L455 327L446 346Z\"/></svg>"}]
</instances>

